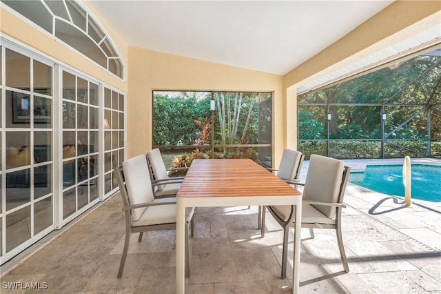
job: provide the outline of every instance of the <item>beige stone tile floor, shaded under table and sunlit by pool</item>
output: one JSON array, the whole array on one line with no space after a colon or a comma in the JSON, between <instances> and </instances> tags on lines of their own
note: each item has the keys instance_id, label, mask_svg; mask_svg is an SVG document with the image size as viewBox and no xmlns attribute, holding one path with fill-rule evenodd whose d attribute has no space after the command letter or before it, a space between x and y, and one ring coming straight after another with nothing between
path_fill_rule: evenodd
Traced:
<instances>
[{"instance_id":1,"label":"beige stone tile floor, shaded under table and sunlit by pool","mask_svg":"<svg viewBox=\"0 0 441 294\"><path fill-rule=\"evenodd\" d=\"M348 184L342 229L350 272L342 270L333 230L315 230L315 239L302 231L300 292L441 293L441 203L401 201ZM121 207L116 194L39 242L32 255L3 265L1 293L174 293L174 230L147 233L141 243L133 235L123 278L116 278ZM198 208L195 217L186 293L292 291L292 245L282 280L282 231L271 215L265 238L256 207ZM45 289L25 289L26 282Z\"/></svg>"}]
</instances>

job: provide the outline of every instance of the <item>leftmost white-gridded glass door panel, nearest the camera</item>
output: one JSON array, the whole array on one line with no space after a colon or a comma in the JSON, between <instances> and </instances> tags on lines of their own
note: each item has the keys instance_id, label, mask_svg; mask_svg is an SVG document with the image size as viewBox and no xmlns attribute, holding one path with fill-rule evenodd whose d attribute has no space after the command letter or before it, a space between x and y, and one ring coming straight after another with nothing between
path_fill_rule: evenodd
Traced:
<instances>
[{"instance_id":1,"label":"leftmost white-gridded glass door panel, nearest the camera","mask_svg":"<svg viewBox=\"0 0 441 294\"><path fill-rule=\"evenodd\" d=\"M2 260L52 231L53 64L0 47ZM4 70L4 71L3 71Z\"/></svg>"}]
</instances>

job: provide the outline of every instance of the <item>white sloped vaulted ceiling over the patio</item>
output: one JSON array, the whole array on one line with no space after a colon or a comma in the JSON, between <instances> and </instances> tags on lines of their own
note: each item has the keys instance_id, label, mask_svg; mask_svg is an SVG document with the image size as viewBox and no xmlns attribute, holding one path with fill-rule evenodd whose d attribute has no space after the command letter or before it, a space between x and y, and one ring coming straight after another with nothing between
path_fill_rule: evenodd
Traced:
<instances>
[{"instance_id":1,"label":"white sloped vaulted ceiling over the patio","mask_svg":"<svg viewBox=\"0 0 441 294\"><path fill-rule=\"evenodd\" d=\"M393 1L87 1L130 46L285 75Z\"/></svg>"}]
</instances>

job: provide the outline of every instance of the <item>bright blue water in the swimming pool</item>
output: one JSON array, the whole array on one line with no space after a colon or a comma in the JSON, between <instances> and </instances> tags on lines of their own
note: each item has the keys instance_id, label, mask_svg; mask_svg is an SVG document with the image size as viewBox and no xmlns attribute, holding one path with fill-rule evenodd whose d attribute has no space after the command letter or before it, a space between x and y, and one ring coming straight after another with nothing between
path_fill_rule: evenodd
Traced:
<instances>
[{"instance_id":1,"label":"bright blue water in the swimming pool","mask_svg":"<svg viewBox=\"0 0 441 294\"><path fill-rule=\"evenodd\" d=\"M412 164L411 198L441 202L441 166ZM379 193L404 196L402 165L367 165L364 172L351 172L349 182Z\"/></svg>"}]
</instances>

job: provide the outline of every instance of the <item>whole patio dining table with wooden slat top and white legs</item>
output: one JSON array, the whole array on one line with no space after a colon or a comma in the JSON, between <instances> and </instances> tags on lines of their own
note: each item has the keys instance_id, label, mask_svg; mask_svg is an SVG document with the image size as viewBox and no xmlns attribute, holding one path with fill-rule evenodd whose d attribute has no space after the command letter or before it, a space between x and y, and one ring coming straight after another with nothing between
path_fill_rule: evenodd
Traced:
<instances>
[{"instance_id":1,"label":"whole patio dining table with wooden slat top and white legs","mask_svg":"<svg viewBox=\"0 0 441 294\"><path fill-rule=\"evenodd\" d=\"M295 205L293 293L298 293L301 193L251 159L194 159L177 194L176 293L185 292L185 208Z\"/></svg>"}]
</instances>

